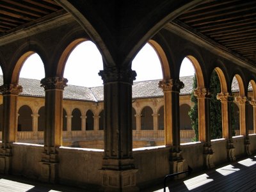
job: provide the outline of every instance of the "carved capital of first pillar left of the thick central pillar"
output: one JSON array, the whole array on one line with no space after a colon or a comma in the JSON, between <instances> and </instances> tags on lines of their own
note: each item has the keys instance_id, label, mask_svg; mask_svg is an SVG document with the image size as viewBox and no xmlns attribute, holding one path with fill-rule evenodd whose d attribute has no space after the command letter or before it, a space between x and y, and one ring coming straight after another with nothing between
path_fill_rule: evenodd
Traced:
<instances>
[{"instance_id":1,"label":"carved capital of first pillar left of the thick central pillar","mask_svg":"<svg viewBox=\"0 0 256 192\"><path fill-rule=\"evenodd\" d=\"M46 77L41 80L41 86L44 87L44 90L64 90L67 86L68 79L62 77Z\"/></svg>"}]
</instances>

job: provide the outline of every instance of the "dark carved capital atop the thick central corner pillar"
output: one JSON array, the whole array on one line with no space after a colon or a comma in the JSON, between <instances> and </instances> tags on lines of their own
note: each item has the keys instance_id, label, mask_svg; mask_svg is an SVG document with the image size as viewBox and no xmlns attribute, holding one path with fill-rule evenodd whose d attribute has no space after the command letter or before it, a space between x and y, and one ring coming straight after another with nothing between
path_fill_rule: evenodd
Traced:
<instances>
[{"instance_id":1,"label":"dark carved capital atop the thick central corner pillar","mask_svg":"<svg viewBox=\"0 0 256 192\"><path fill-rule=\"evenodd\" d=\"M101 76L104 83L120 81L132 84L136 79L137 74L134 70L131 69L109 67L104 70L100 70L99 76Z\"/></svg>"}]
</instances>

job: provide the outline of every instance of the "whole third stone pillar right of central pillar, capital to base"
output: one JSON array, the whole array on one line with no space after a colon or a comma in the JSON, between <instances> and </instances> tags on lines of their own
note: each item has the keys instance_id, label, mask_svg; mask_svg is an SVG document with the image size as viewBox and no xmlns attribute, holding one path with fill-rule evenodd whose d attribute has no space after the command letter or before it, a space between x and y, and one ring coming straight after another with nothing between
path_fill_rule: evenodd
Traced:
<instances>
[{"instance_id":1,"label":"whole third stone pillar right of central pillar, capital to base","mask_svg":"<svg viewBox=\"0 0 256 192\"><path fill-rule=\"evenodd\" d=\"M229 161L235 161L235 148L232 139L231 104L233 97L229 93L218 93L217 99L221 101L222 135L227 140L227 156Z\"/></svg>"}]
</instances>

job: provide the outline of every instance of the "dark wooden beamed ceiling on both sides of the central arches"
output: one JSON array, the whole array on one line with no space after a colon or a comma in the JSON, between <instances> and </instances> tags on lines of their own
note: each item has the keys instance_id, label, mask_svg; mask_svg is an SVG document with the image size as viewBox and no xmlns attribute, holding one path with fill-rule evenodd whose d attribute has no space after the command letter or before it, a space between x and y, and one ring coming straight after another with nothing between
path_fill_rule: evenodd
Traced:
<instances>
[{"instance_id":1,"label":"dark wooden beamed ceiling on both sides of the central arches","mask_svg":"<svg viewBox=\"0 0 256 192\"><path fill-rule=\"evenodd\" d=\"M0 38L67 13L53 0L1 0ZM210 0L172 22L256 66L256 1Z\"/></svg>"}]
</instances>

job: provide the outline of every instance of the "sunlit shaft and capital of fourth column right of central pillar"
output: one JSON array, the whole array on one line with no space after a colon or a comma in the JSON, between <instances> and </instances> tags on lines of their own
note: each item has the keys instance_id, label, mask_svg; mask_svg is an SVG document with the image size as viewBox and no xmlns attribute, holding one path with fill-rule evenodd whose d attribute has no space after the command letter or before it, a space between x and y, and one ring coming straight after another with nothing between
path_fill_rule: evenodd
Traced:
<instances>
[{"instance_id":1,"label":"sunlit shaft and capital of fourth column right of central pillar","mask_svg":"<svg viewBox=\"0 0 256 192\"><path fill-rule=\"evenodd\" d=\"M236 102L239 104L239 122L240 134L246 136L246 97L236 97Z\"/></svg>"}]
</instances>

